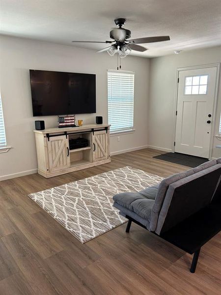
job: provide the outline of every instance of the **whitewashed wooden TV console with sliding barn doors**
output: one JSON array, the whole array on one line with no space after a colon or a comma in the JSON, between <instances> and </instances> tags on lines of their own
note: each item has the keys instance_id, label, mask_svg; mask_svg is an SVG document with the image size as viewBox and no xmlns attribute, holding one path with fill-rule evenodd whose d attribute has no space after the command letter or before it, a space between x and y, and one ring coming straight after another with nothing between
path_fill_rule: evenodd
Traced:
<instances>
[{"instance_id":1,"label":"whitewashed wooden TV console with sliding barn doors","mask_svg":"<svg viewBox=\"0 0 221 295\"><path fill-rule=\"evenodd\" d=\"M111 162L110 125L34 130L38 173L46 178ZM87 139L85 148L69 148L69 139Z\"/></svg>"}]
</instances>

